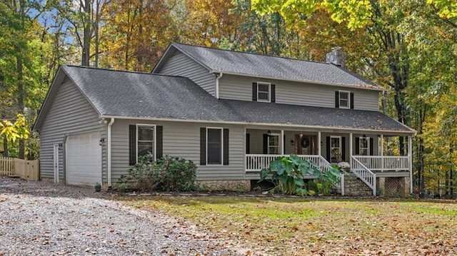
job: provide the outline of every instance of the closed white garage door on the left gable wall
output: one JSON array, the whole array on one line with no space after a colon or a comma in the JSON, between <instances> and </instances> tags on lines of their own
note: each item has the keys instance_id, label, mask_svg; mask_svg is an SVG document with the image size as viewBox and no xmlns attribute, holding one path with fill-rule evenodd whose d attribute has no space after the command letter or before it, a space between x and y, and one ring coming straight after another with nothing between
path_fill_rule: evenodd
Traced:
<instances>
[{"instance_id":1,"label":"closed white garage door on the left gable wall","mask_svg":"<svg viewBox=\"0 0 457 256\"><path fill-rule=\"evenodd\" d=\"M100 133L70 135L66 140L66 183L101 183Z\"/></svg>"}]
</instances>

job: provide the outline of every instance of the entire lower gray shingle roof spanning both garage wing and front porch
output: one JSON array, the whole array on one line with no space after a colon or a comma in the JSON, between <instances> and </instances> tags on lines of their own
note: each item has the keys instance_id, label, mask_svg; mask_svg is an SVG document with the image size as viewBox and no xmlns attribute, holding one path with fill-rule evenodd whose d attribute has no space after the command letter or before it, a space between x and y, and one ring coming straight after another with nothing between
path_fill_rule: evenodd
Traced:
<instances>
[{"instance_id":1,"label":"entire lower gray shingle roof spanning both garage wing and front porch","mask_svg":"<svg viewBox=\"0 0 457 256\"><path fill-rule=\"evenodd\" d=\"M62 66L102 116L412 132L376 111L218 100L189 78Z\"/></svg>"}]
</instances>

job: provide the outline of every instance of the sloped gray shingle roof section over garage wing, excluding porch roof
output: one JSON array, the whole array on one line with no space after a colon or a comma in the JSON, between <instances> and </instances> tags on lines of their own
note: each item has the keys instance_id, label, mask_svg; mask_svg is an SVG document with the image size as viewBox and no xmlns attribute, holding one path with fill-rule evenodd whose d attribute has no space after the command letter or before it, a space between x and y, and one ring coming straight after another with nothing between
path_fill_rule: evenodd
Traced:
<instances>
[{"instance_id":1,"label":"sloped gray shingle roof section over garage wing, excluding porch roof","mask_svg":"<svg viewBox=\"0 0 457 256\"><path fill-rule=\"evenodd\" d=\"M104 116L237 121L223 103L189 78L63 66Z\"/></svg>"}]
</instances>

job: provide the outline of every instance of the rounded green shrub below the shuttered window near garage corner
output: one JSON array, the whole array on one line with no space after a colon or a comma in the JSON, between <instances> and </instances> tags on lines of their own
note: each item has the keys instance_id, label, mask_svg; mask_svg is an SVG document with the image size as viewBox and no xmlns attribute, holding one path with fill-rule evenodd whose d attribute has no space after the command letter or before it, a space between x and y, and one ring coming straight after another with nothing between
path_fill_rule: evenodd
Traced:
<instances>
[{"instance_id":1,"label":"rounded green shrub below the shuttered window near garage corner","mask_svg":"<svg viewBox=\"0 0 457 256\"><path fill-rule=\"evenodd\" d=\"M122 175L119 188L134 188L141 191L188 191L194 190L196 165L184 158L169 157L152 160L152 155L142 155L138 163Z\"/></svg>"}]
</instances>

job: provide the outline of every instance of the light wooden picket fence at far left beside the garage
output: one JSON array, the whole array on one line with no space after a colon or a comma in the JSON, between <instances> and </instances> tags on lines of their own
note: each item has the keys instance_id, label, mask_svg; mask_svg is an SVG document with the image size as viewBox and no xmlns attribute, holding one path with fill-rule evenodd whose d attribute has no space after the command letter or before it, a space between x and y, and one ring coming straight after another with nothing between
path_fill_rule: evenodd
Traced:
<instances>
[{"instance_id":1,"label":"light wooden picket fence at far left beside the garage","mask_svg":"<svg viewBox=\"0 0 457 256\"><path fill-rule=\"evenodd\" d=\"M0 158L0 175L19 176L24 180L39 180L40 162L39 160Z\"/></svg>"}]
</instances>

